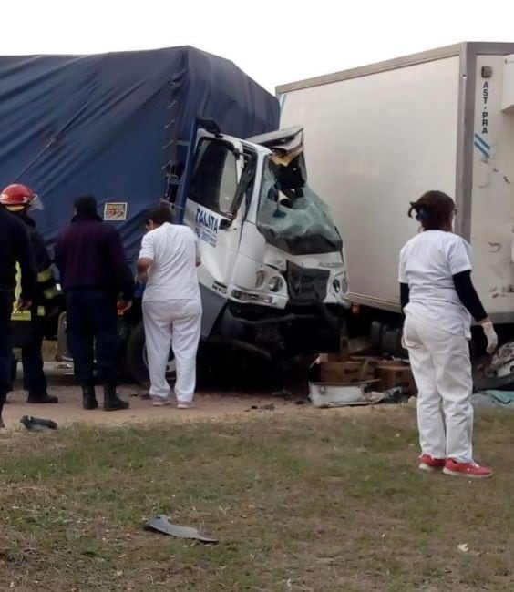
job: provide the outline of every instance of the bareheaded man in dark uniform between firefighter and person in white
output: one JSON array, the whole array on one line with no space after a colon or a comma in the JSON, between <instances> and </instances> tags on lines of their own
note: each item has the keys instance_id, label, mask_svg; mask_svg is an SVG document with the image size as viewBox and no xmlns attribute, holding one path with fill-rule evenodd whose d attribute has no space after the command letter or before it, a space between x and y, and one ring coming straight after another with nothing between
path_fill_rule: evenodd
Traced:
<instances>
[{"instance_id":1,"label":"bareheaded man in dark uniform between firefighter and person in white","mask_svg":"<svg viewBox=\"0 0 514 592\"><path fill-rule=\"evenodd\" d=\"M83 407L98 407L93 382L96 353L104 410L128 409L116 393L118 311L130 307L134 281L118 231L102 222L93 197L75 202L71 224L57 237L56 264L66 295L67 343L82 387Z\"/></svg>"}]
</instances>

